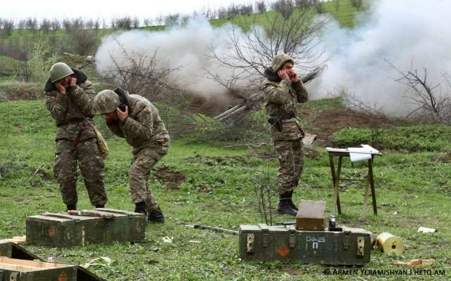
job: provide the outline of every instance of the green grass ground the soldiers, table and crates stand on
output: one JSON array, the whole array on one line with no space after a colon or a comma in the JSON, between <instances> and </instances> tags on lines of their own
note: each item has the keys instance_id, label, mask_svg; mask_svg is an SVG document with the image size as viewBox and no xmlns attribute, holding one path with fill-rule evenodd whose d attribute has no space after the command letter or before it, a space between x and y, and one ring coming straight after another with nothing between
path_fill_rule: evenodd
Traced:
<instances>
[{"instance_id":1,"label":"green grass ground the soldiers, table and crates stand on","mask_svg":"<svg viewBox=\"0 0 451 281\"><path fill-rule=\"evenodd\" d=\"M310 104L323 108L334 103ZM309 103L307 103L309 106ZM25 217L45 211L63 211L58 185L52 176L54 163L54 122L42 100L0 103L0 238L25 234ZM97 124L106 133L104 122ZM416 128L425 136L441 126ZM426 131L426 132L425 132ZM434 139L430 140L435 141ZM109 195L107 207L132 210L127 184L130 147L122 139L109 137L111 155L106 159L105 183ZM187 177L178 190L151 179L156 199L166 214L163 225L149 225L146 240L137 244L88 245L71 249L26 247L43 259L53 256L62 263L81 264L99 256L109 256L111 266L89 268L106 280L323 280L325 268L299 263L251 263L237 257L237 237L206 230L185 228L183 224L204 223L237 229L240 224L260 223L256 211L252 176L264 180L271 175L275 186L277 162L250 157L268 153L247 149L227 150L228 143L199 142L192 138L173 138L170 152L157 166L167 165ZM314 148L318 158L307 157L302 182L295 201L324 200L327 214L332 207L330 168L326 151ZM385 151L383 151L385 152ZM399 235L406 250L400 257L385 256L373 250L371 263L364 269L400 269L397 260L433 258L426 269L445 269L451 274L451 164L438 157L439 151L384 153L376 157L375 177L378 216L369 213L359 222L363 188L357 182L343 182L339 222L370 230L375 234L388 231ZM344 178L359 178L362 164L351 166L347 160ZM155 171L154 171L155 172ZM78 181L80 208L90 208L82 180ZM274 221L291 218L276 215ZM437 228L438 233L419 234L419 226ZM163 242L163 237L173 242ZM199 241L201 243L190 242ZM445 277L447 277L445 276ZM418 280L424 276L359 276L364 280ZM426 276L427 280L443 280ZM424 277L423 280L426 280ZM330 275L330 280L344 277ZM435 278L435 279L434 279ZM446 278L445 278L446 279Z\"/></svg>"}]
</instances>

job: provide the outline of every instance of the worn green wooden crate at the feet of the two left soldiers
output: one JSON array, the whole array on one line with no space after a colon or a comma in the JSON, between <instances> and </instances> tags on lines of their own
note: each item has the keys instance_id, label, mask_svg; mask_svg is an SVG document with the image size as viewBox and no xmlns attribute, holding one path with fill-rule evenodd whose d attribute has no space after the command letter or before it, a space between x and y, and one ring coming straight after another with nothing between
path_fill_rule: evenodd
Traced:
<instances>
[{"instance_id":1,"label":"worn green wooden crate at the feet of the two left soldiers","mask_svg":"<svg viewBox=\"0 0 451 281\"><path fill-rule=\"evenodd\" d=\"M45 213L27 217L27 244L73 247L144 240L147 221L143 214L116 209L94 209L88 212L89 216Z\"/></svg>"}]
</instances>

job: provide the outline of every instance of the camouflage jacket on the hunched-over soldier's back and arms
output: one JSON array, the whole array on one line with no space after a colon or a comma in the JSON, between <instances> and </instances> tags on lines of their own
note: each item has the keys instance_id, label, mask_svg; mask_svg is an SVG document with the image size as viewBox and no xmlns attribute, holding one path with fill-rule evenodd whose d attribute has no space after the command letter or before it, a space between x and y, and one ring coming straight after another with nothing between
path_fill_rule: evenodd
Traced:
<instances>
[{"instance_id":1,"label":"camouflage jacket on the hunched-over soldier's back and arms","mask_svg":"<svg viewBox=\"0 0 451 281\"><path fill-rule=\"evenodd\" d=\"M128 117L125 122L119 120L107 123L117 136L125 138L132 146L132 153L142 148L155 148L169 143L169 133L161 120L158 110L146 98L128 95Z\"/></svg>"}]
</instances>

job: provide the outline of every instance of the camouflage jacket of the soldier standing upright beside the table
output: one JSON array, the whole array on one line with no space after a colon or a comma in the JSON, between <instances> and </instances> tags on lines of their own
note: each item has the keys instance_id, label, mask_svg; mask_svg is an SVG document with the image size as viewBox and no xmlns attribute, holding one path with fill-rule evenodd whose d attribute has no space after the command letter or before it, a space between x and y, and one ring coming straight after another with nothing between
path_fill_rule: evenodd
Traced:
<instances>
[{"instance_id":1,"label":"camouflage jacket of the soldier standing upright beside the table","mask_svg":"<svg viewBox=\"0 0 451 281\"><path fill-rule=\"evenodd\" d=\"M265 93L265 107L269 116L292 116L282 121L283 130L271 126L273 141L288 141L304 137L304 130L297 118L297 103L305 103L308 93L302 81L292 83L289 78L280 79L271 67L265 70L266 79L262 89Z\"/></svg>"}]
</instances>

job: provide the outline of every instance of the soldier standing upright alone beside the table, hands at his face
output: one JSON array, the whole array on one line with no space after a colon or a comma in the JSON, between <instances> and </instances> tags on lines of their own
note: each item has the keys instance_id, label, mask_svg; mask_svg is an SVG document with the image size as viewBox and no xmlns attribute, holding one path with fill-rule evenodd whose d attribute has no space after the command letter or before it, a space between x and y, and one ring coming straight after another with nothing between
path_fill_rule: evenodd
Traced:
<instances>
[{"instance_id":1,"label":"soldier standing upright alone beside the table, hands at his face","mask_svg":"<svg viewBox=\"0 0 451 281\"><path fill-rule=\"evenodd\" d=\"M308 93L292 67L294 60L285 54L274 56L271 67L266 68L262 84L265 93L271 140L279 160L278 192L279 214L296 216L297 207L292 195L304 168L302 138L304 131L297 119L297 103L305 103Z\"/></svg>"}]
</instances>

